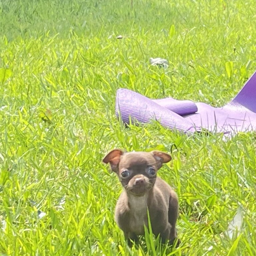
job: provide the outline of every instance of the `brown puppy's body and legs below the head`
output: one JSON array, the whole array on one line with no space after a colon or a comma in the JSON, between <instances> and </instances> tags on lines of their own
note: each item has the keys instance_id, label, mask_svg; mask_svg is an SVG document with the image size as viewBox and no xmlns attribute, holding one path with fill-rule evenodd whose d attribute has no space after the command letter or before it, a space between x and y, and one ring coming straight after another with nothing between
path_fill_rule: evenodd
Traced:
<instances>
[{"instance_id":1,"label":"brown puppy's body and legs below the head","mask_svg":"<svg viewBox=\"0 0 256 256\"><path fill-rule=\"evenodd\" d=\"M178 199L171 187L157 177L155 185L143 196L121 193L115 209L115 219L127 238L137 240L148 226L147 209L153 233L160 234L162 242L176 238Z\"/></svg>"}]
</instances>

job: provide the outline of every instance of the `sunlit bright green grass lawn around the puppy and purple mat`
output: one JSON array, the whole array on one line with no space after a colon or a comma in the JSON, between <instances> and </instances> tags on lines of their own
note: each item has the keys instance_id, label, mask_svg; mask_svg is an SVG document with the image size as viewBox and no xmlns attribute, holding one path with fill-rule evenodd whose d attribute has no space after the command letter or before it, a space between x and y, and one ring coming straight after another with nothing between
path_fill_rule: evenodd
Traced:
<instances>
[{"instance_id":1,"label":"sunlit bright green grass lawn around the puppy and purple mat","mask_svg":"<svg viewBox=\"0 0 256 256\"><path fill-rule=\"evenodd\" d=\"M0 255L256 254L254 133L124 128L114 113L118 88L231 100L256 69L255 3L132 2L0 1ZM113 218L122 188L101 162L115 147L172 154L159 176L179 196L177 250L152 234L127 247Z\"/></svg>"}]
</instances>

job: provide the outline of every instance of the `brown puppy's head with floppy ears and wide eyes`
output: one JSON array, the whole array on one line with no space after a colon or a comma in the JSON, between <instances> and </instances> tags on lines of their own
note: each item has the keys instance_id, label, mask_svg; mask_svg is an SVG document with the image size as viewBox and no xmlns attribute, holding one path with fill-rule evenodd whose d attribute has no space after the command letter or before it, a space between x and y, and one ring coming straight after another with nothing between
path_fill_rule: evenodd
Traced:
<instances>
[{"instance_id":1,"label":"brown puppy's head with floppy ears and wide eyes","mask_svg":"<svg viewBox=\"0 0 256 256\"><path fill-rule=\"evenodd\" d=\"M171 156L161 151L124 153L114 149L103 162L110 163L128 193L142 196L154 186L157 170L170 160Z\"/></svg>"}]
</instances>

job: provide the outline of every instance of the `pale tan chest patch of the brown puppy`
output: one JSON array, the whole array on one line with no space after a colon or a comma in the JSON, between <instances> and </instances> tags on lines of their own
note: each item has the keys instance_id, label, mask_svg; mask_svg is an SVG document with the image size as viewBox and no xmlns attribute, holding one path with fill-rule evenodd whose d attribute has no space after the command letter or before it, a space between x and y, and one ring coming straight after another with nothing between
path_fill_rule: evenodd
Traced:
<instances>
[{"instance_id":1,"label":"pale tan chest patch of the brown puppy","mask_svg":"<svg viewBox=\"0 0 256 256\"><path fill-rule=\"evenodd\" d=\"M131 200L129 226L136 235L144 234L144 224L148 225L147 198L139 197Z\"/></svg>"}]
</instances>

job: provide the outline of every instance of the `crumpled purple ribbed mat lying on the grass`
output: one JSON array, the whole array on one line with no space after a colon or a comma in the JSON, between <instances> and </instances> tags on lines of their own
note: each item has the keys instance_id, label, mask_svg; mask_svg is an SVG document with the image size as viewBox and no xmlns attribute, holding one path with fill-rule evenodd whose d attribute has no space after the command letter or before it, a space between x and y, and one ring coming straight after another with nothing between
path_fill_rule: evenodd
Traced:
<instances>
[{"instance_id":1,"label":"crumpled purple ribbed mat lying on the grass","mask_svg":"<svg viewBox=\"0 0 256 256\"><path fill-rule=\"evenodd\" d=\"M256 72L227 105L215 108L203 102L173 98L149 99L127 89L117 90L116 115L124 123L157 120L169 129L237 133L256 130Z\"/></svg>"}]
</instances>

